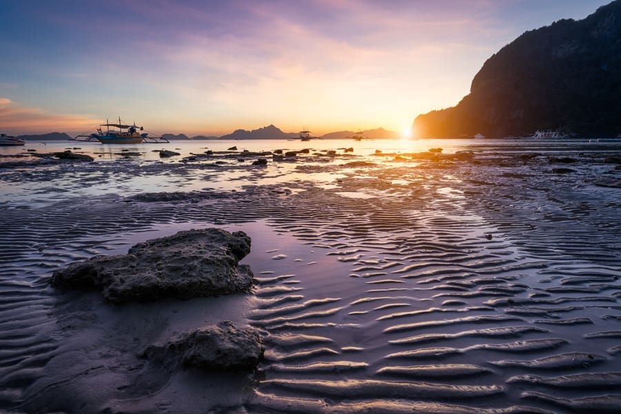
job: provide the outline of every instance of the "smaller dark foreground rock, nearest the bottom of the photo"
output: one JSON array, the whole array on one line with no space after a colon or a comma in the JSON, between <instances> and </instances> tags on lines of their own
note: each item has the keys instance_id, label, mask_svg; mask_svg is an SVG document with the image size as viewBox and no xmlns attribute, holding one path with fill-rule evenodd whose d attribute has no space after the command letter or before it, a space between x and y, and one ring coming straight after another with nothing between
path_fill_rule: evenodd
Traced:
<instances>
[{"instance_id":1,"label":"smaller dark foreground rock, nearest the bottom of the photo","mask_svg":"<svg viewBox=\"0 0 621 414\"><path fill-rule=\"evenodd\" d=\"M238 328L230 321L181 333L164 345L149 346L144 357L169 369L254 371L265 348L254 328Z\"/></svg>"}]
</instances>

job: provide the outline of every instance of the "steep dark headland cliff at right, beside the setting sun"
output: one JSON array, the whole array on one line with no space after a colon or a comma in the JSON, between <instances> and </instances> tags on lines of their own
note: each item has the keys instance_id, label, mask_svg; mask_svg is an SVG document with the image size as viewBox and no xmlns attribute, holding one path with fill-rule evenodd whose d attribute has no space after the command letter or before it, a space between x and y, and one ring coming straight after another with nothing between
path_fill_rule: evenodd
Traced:
<instances>
[{"instance_id":1,"label":"steep dark headland cliff at right, beside the setting sun","mask_svg":"<svg viewBox=\"0 0 621 414\"><path fill-rule=\"evenodd\" d=\"M562 129L581 137L621 132L621 0L586 19L525 32L487 59L470 94L416 117L419 137L532 135Z\"/></svg>"}]
</instances>

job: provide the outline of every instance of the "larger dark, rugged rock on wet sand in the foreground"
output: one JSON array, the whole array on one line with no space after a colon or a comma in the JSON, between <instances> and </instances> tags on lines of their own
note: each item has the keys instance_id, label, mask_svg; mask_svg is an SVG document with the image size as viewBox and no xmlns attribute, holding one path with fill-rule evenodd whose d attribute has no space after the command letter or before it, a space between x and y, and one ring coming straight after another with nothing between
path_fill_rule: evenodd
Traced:
<instances>
[{"instance_id":1,"label":"larger dark, rugged rock on wet sand in the foreground","mask_svg":"<svg viewBox=\"0 0 621 414\"><path fill-rule=\"evenodd\" d=\"M219 228L180 231L130 248L127 255L99 256L52 275L53 286L101 289L111 302L189 299L246 292L253 273L238 262L250 237Z\"/></svg>"}]
</instances>

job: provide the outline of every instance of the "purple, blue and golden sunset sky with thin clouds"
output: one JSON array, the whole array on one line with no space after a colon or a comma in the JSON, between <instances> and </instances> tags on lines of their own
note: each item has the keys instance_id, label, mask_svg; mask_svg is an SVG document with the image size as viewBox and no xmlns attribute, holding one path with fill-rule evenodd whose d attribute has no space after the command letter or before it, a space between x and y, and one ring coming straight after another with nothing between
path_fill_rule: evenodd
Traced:
<instances>
[{"instance_id":1,"label":"purple, blue and golden sunset sky with thin clouds","mask_svg":"<svg viewBox=\"0 0 621 414\"><path fill-rule=\"evenodd\" d=\"M0 0L0 132L402 131L609 0Z\"/></svg>"}]
</instances>

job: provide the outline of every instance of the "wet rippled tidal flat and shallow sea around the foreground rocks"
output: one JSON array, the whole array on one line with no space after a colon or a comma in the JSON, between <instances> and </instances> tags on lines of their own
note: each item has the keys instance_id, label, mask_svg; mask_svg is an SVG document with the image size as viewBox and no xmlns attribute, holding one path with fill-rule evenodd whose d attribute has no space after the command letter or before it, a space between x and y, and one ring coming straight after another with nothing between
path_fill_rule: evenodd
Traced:
<instances>
[{"instance_id":1,"label":"wet rippled tidal flat and shallow sea around the foreground rocks","mask_svg":"<svg viewBox=\"0 0 621 414\"><path fill-rule=\"evenodd\" d=\"M0 167L0 409L620 411L621 144L174 142L181 156L163 161L155 145L70 143L105 152L88 164L0 159L24 161ZM260 167L219 152L233 145L313 149ZM69 147L26 148L53 146ZM217 155L181 161L205 147ZM407 156L437 147L475 155ZM253 295L110 305L47 284L75 260L208 226L252 238ZM224 318L264 335L255 376L137 356Z\"/></svg>"}]
</instances>

